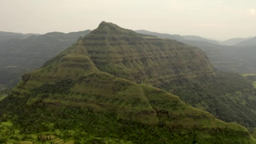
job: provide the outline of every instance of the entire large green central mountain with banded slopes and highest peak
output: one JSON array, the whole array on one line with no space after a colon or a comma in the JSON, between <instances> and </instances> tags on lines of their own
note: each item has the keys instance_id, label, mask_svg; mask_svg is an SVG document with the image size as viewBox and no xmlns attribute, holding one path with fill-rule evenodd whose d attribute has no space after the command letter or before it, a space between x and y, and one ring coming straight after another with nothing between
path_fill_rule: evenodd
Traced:
<instances>
[{"instance_id":1,"label":"entire large green central mountain with banded slopes and highest peak","mask_svg":"<svg viewBox=\"0 0 256 144\"><path fill-rule=\"evenodd\" d=\"M134 83L161 85L215 75L198 48L103 21L43 67L23 75L0 101L0 142L255 143L241 125Z\"/></svg>"}]
</instances>

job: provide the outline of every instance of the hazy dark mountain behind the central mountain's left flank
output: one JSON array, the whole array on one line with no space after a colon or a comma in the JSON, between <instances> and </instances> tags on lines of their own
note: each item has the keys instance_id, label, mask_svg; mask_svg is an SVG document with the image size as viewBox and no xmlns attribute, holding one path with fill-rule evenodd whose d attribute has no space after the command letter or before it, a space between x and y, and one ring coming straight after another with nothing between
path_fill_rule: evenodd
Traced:
<instances>
[{"instance_id":1,"label":"hazy dark mountain behind the central mountain's left flank","mask_svg":"<svg viewBox=\"0 0 256 144\"><path fill-rule=\"evenodd\" d=\"M21 75L41 67L45 61L90 32L50 32L0 43L0 84L13 87Z\"/></svg>"}]
</instances>

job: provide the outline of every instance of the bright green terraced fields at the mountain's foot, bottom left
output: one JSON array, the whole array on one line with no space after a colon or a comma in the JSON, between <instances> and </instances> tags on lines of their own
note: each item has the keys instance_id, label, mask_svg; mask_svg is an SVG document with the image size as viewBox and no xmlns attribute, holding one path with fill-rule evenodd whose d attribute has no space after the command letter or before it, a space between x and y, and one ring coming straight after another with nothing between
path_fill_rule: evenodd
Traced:
<instances>
[{"instance_id":1,"label":"bright green terraced fields at the mountain's foot, bottom left","mask_svg":"<svg viewBox=\"0 0 256 144\"><path fill-rule=\"evenodd\" d=\"M2 122L0 124L0 144L75 144L78 142L73 140L74 136L77 133L85 133L72 130L60 131L57 129L55 131L45 131L26 135L15 128L15 125L13 125L11 121ZM120 139L94 137L88 135L88 133L85 133L85 135L87 135L88 138L80 139L80 144L88 144L88 141L104 141L106 144L133 144L130 141L123 141Z\"/></svg>"}]
</instances>

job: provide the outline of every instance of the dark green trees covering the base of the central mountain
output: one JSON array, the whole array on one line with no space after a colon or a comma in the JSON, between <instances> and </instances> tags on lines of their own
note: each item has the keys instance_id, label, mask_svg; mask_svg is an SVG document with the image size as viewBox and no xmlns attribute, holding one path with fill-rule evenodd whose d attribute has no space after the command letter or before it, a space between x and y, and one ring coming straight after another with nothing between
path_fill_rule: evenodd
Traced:
<instances>
[{"instance_id":1,"label":"dark green trees covering the base of the central mountain","mask_svg":"<svg viewBox=\"0 0 256 144\"><path fill-rule=\"evenodd\" d=\"M23 107L13 109L10 101ZM16 118L7 116L2 117L0 121L13 120L14 126L10 129L19 129L23 134L21 138L11 138L18 141L19 139L31 139L29 138L31 133L38 133L40 136L41 132L48 131L48 134L56 135L56 132L52 133L56 129L61 131L62 134L59 134L61 139L65 141L74 139L75 144L105 144L105 142L109 144L125 142L133 144L180 144L181 142L182 144L236 144L245 143L243 137L249 135L246 131L235 131L229 128L198 128L195 126L189 131L184 130L182 125L165 125L164 122L149 125L118 120L117 113L114 111L93 112L90 108L46 104L41 101L27 107L25 103L25 99L15 99L9 96L1 103L7 107L0 106L1 109L12 109L17 114ZM70 130L73 132L70 133ZM203 138L205 133L211 136ZM10 133L6 135L11 136ZM8 141L8 136L5 138L1 139L1 142ZM43 142L44 140L34 141Z\"/></svg>"}]
</instances>

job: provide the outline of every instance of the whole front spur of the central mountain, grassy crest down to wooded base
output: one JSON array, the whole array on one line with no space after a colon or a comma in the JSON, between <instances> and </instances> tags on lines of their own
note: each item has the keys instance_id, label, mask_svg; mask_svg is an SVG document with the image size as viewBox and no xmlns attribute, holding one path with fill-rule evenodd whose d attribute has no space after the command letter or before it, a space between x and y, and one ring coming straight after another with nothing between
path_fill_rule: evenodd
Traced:
<instances>
[{"instance_id":1,"label":"whole front spur of the central mountain, grassy crest down to wooded base","mask_svg":"<svg viewBox=\"0 0 256 144\"><path fill-rule=\"evenodd\" d=\"M150 136L160 143L255 141L241 125L217 120L177 96L101 72L96 66L103 59L89 54L84 42L78 40L41 69L24 75L11 95L1 101L1 112L9 114L6 119L12 119L25 133L51 130L41 125L51 122L54 128L83 128L94 136L136 143L150 143ZM111 49L102 50L110 53ZM111 63L113 59L106 57L104 61ZM13 114L16 117L11 117Z\"/></svg>"}]
</instances>

